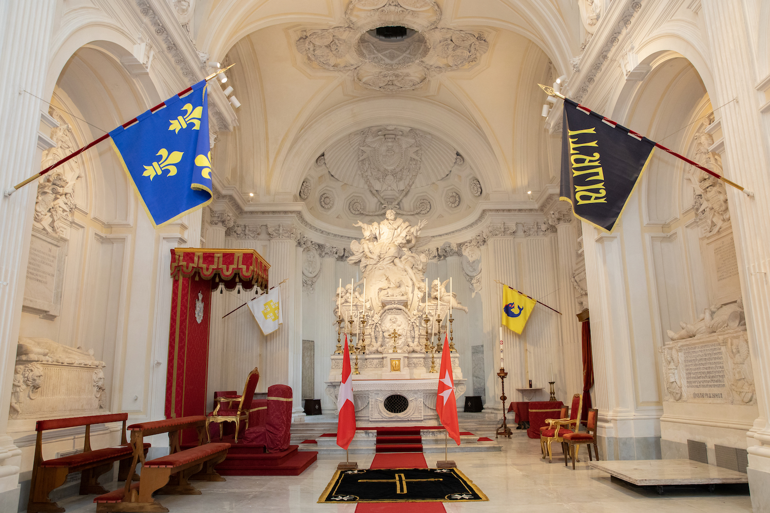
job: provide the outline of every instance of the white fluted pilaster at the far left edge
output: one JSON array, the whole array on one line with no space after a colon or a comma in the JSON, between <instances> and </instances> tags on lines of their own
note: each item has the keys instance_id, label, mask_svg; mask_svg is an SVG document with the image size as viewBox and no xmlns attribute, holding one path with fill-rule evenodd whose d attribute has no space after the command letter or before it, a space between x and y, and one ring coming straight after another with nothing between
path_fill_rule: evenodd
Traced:
<instances>
[{"instance_id":1,"label":"white fluted pilaster at the far left edge","mask_svg":"<svg viewBox=\"0 0 770 513\"><path fill-rule=\"evenodd\" d=\"M8 2L0 18L0 155L3 191L40 170L41 153L36 150L41 103L45 98L45 75L56 2L29 0ZM25 89L32 95L20 92ZM50 95L50 92L48 93ZM35 96L33 96L35 95ZM44 134L48 136L49 134ZM32 233L35 183L0 196L0 404L11 402L13 362L22 315L27 255ZM2 192L0 192L2 194ZM0 504L18 501L18 465L21 451L6 435L8 415L0 415Z\"/></svg>"}]
</instances>

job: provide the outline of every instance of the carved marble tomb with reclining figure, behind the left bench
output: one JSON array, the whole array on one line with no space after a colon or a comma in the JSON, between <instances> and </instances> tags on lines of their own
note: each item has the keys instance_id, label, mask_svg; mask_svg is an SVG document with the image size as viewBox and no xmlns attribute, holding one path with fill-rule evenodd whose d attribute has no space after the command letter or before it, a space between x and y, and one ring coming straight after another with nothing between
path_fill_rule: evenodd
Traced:
<instances>
[{"instance_id":1,"label":"carved marble tomb with reclining figure, behind the left bench","mask_svg":"<svg viewBox=\"0 0 770 513\"><path fill-rule=\"evenodd\" d=\"M105 411L105 363L93 355L93 349L72 348L48 338L19 338L10 418L95 415Z\"/></svg>"}]
</instances>

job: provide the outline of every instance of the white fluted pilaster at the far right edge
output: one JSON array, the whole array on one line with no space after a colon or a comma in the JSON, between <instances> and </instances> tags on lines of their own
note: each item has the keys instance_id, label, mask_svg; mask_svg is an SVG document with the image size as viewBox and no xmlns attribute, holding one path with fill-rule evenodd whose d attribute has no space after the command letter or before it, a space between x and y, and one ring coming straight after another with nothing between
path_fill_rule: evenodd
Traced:
<instances>
[{"instance_id":1,"label":"white fluted pilaster at the far right edge","mask_svg":"<svg viewBox=\"0 0 770 513\"><path fill-rule=\"evenodd\" d=\"M759 107L764 95L753 85L762 79L758 68L766 63L755 62L751 47L752 24L746 18L745 2L703 0L706 41L711 51L711 75L714 91L709 91L713 105L720 108L722 132L725 135L723 162L734 182L752 189L754 198L747 198L728 187L730 214L735 246L738 250L739 273L746 312L749 344L754 366L759 418L749 431L749 485L752 488L754 511L770 511L770 505L755 501L770 485L770 197L768 176L767 121ZM764 73L764 72L763 72ZM738 100L734 102L733 100ZM762 119L764 116L765 119Z\"/></svg>"}]
</instances>

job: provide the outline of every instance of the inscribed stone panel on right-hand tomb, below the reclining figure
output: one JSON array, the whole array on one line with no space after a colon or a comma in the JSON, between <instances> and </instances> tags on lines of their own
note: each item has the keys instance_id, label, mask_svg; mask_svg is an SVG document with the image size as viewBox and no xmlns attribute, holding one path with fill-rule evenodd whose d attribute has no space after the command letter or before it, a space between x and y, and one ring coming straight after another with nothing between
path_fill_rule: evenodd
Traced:
<instances>
[{"instance_id":1,"label":"inscribed stone panel on right-hand tomb, below the reclining figure","mask_svg":"<svg viewBox=\"0 0 770 513\"><path fill-rule=\"evenodd\" d=\"M718 342L684 348L685 379L692 400L725 399L725 354Z\"/></svg>"}]
</instances>

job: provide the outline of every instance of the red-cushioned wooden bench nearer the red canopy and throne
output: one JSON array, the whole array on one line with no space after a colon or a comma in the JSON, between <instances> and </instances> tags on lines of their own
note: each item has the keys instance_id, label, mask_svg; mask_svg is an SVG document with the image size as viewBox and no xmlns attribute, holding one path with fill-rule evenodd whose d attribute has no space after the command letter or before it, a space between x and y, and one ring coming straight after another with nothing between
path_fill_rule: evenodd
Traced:
<instances>
[{"instance_id":1,"label":"red-cushioned wooden bench nearer the red canopy and throne","mask_svg":"<svg viewBox=\"0 0 770 513\"><path fill-rule=\"evenodd\" d=\"M214 470L227 457L230 445L227 443L209 443L203 441L206 417L167 418L163 421L142 422L129 426L133 448L133 465L142 463L139 483L130 480L126 486L115 491L99 495L94 499L97 513L102 511L169 511L152 498L153 493L162 495L200 495L200 491L189 484L189 479L202 481L225 481ZM180 442L182 430L194 428L198 434L196 447L182 450ZM145 460L140 448L143 438L159 433L169 434L169 455L152 460ZM205 469L204 469L205 466ZM133 470L129 471L129 476Z\"/></svg>"}]
</instances>

